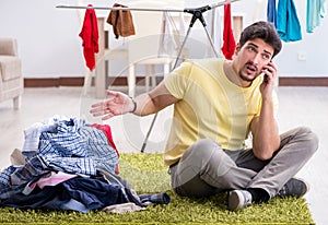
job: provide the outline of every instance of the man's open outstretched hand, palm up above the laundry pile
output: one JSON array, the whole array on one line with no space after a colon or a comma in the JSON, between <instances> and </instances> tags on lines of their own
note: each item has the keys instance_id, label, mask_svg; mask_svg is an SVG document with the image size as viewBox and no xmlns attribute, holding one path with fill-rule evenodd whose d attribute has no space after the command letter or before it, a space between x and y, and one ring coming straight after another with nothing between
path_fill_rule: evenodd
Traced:
<instances>
[{"instance_id":1,"label":"man's open outstretched hand, palm up above the laundry pile","mask_svg":"<svg viewBox=\"0 0 328 225\"><path fill-rule=\"evenodd\" d=\"M104 116L102 119L106 120L114 116L131 112L134 109L132 98L121 92L106 91L109 96L108 99L93 104L90 112L94 117Z\"/></svg>"}]
</instances>

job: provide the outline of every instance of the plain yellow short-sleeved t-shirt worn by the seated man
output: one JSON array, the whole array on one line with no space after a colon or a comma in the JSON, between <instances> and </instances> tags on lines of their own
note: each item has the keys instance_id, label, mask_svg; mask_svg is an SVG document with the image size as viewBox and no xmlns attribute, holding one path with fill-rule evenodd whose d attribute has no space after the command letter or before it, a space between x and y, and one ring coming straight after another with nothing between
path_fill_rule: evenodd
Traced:
<instances>
[{"instance_id":1,"label":"plain yellow short-sleeved t-shirt worn by the seated man","mask_svg":"<svg viewBox=\"0 0 328 225\"><path fill-rule=\"evenodd\" d=\"M216 58L185 61L164 80L168 92L179 99L174 105L165 165L177 162L199 139L214 140L226 150L243 149L251 120L260 115L263 78L249 87L237 86L226 78L223 62Z\"/></svg>"}]
</instances>

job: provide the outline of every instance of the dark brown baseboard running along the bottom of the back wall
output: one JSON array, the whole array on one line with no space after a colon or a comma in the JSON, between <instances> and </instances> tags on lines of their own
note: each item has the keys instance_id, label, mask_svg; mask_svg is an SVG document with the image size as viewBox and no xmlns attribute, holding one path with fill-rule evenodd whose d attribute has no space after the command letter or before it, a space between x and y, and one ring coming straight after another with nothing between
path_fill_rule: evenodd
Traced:
<instances>
[{"instance_id":1,"label":"dark brown baseboard running along the bottom of the back wall","mask_svg":"<svg viewBox=\"0 0 328 225\"><path fill-rule=\"evenodd\" d=\"M163 78L156 78L157 83ZM50 86L83 86L84 78L49 78L24 79L24 87L50 87ZM94 83L94 81L92 82ZM137 83L143 84L144 78L137 76ZM108 84L114 86L127 86L127 78L109 78ZM279 86L328 86L328 78L279 78Z\"/></svg>"}]
</instances>

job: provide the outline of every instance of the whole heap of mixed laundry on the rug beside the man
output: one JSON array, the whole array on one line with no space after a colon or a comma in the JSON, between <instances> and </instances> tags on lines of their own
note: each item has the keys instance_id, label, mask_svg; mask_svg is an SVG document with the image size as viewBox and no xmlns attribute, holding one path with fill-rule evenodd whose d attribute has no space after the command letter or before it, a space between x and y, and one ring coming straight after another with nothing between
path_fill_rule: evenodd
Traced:
<instances>
[{"instance_id":1,"label":"whole heap of mixed laundry on the rug beside the man","mask_svg":"<svg viewBox=\"0 0 328 225\"><path fill-rule=\"evenodd\" d=\"M137 194L118 175L108 125L54 116L24 130L23 150L0 174L0 205L89 212L139 211L167 204L166 193Z\"/></svg>"}]
</instances>

